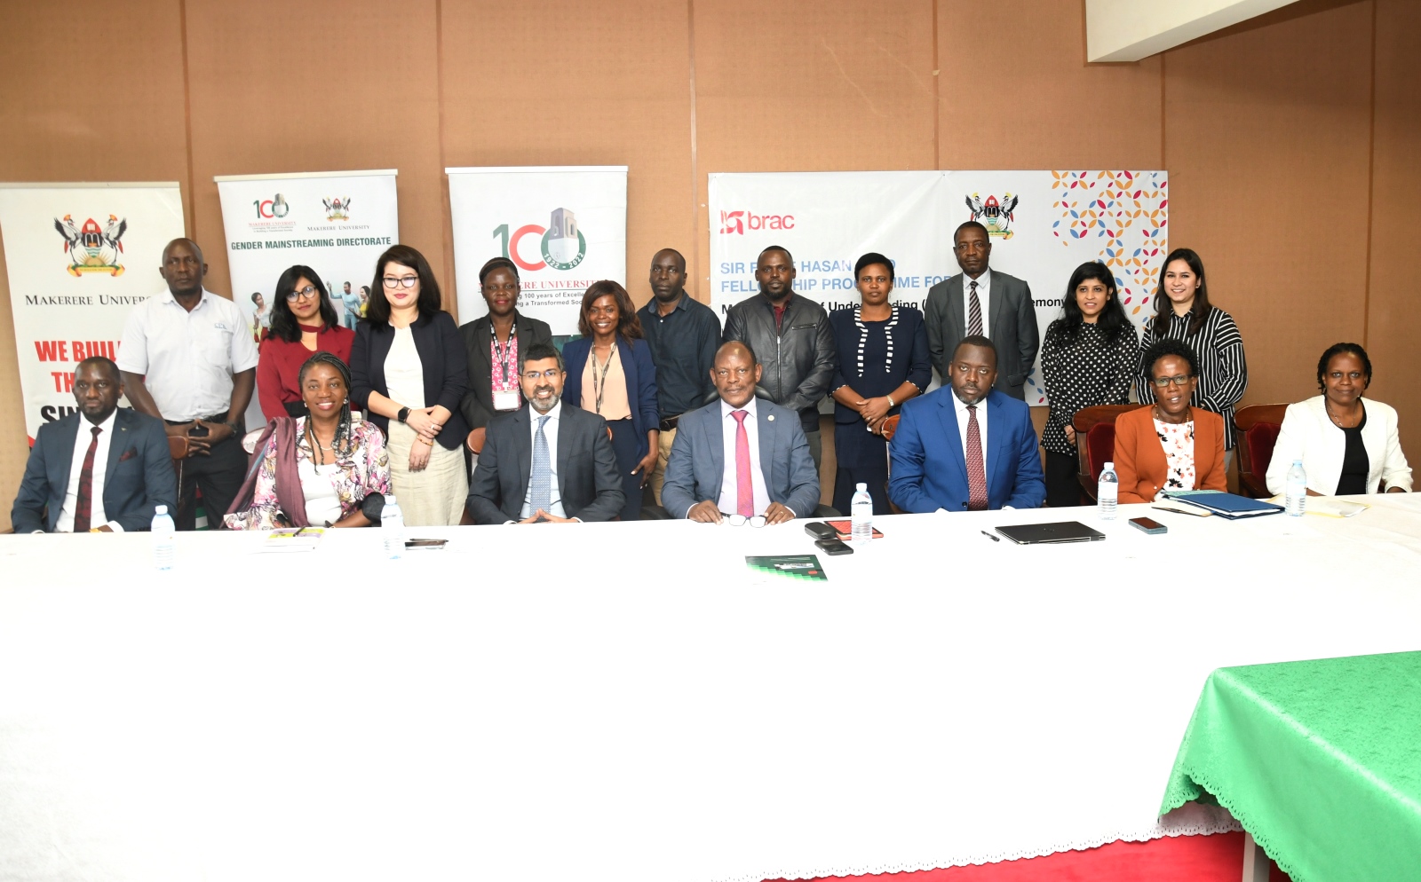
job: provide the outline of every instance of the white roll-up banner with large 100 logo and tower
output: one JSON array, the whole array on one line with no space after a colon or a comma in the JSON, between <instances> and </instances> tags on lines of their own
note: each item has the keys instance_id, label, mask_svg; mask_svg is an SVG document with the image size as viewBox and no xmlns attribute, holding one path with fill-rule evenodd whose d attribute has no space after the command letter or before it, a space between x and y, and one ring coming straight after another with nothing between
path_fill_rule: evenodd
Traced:
<instances>
[{"instance_id":1,"label":"white roll-up banner with large 100 logo and tower","mask_svg":"<svg viewBox=\"0 0 1421 882\"><path fill-rule=\"evenodd\" d=\"M486 314L479 268L492 257L519 267L519 312L554 337L577 334L594 281L627 284L627 166L445 169L453 219L459 321Z\"/></svg>"}]
</instances>

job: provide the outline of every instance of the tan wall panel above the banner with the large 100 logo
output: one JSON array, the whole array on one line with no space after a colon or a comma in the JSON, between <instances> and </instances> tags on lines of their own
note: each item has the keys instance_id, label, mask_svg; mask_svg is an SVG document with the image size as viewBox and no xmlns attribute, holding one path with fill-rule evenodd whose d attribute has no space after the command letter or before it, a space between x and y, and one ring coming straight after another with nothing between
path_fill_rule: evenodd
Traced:
<instances>
[{"instance_id":1,"label":"tan wall panel above the banner with the large 100 logo","mask_svg":"<svg viewBox=\"0 0 1421 882\"><path fill-rule=\"evenodd\" d=\"M695 253L686 23L685 0L443 3L445 165L628 166L638 304L657 250Z\"/></svg>"}]
</instances>

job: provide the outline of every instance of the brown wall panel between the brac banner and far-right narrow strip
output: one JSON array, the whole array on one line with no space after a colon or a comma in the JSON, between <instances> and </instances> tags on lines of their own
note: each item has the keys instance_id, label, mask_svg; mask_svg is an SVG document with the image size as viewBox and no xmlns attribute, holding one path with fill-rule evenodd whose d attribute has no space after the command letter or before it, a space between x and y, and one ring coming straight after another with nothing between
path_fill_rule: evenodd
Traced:
<instances>
[{"instance_id":1,"label":"brown wall panel between the brac banner and far-right narrow strip","mask_svg":"<svg viewBox=\"0 0 1421 882\"><path fill-rule=\"evenodd\" d=\"M1245 403L1312 395L1319 354L1363 334L1370 89L1367 3L1165 57L1169 244L1238 321Z\"/></svg>"}]
</instances>

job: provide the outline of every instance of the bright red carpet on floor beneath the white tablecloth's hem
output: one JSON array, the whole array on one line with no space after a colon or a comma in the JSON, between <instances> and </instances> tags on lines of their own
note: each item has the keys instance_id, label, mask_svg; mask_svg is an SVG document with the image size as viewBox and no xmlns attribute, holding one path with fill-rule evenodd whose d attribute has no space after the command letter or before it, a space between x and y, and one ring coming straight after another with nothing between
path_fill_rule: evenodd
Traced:
<instances>
[{"instance_id":1,"label":"bright red carpet on floor beneath the white tablecloth's hem","mask_svg":"<svg viewBox=\"0 0 1421 882\"><path fill-rule=\"evenodd\" d=\"M1277 866L1269 882L1289 882ZM1239 882L1243 834L1110 842L1087 851L914 873L831 876L831 882ZM782 882L782 881L776 881Z\"/></svg>"}]
</instances>

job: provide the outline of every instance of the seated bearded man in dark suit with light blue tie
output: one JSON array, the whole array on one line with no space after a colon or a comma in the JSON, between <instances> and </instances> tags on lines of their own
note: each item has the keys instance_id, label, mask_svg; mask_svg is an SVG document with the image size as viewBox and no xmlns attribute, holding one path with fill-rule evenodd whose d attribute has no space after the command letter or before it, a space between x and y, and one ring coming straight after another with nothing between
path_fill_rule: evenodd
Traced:
<instances>
[{"instance_id":1,"label":"seated bearded man in dark suit with light blue tie","mask_svg":"<svg viewBox=\"0 0 1421 882\"><path fill-rule=\"evenodd\" d=\"M469 481L476 524L610 521L625 496L607 420L563 409L563 356L534 344L519 358L527 405L489 420Z\"/></svg>"}]
</instances>

